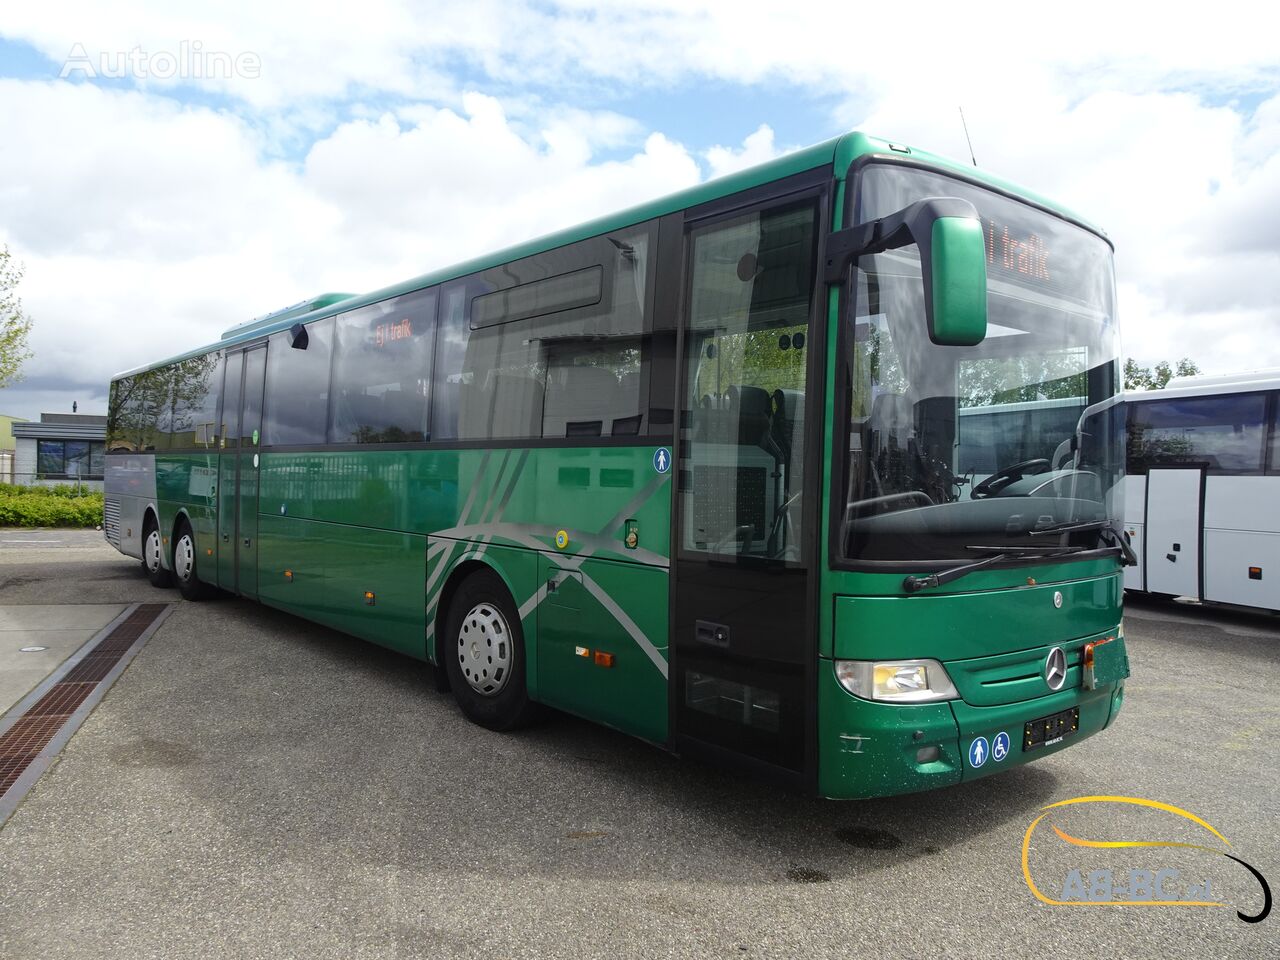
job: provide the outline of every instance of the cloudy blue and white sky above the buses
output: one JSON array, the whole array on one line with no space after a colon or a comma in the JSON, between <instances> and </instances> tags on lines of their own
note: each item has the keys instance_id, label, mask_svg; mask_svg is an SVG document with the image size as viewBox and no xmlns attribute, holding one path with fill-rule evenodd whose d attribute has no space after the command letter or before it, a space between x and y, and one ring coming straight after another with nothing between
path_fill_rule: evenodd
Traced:
<instances>
[{"instance_id":1,"label":"cloudy blue and white sky above the buses","mask_svg":"<svg viewBox=\"0 0 1280 960\"><path fill-rule=\"evenodd\" d=\"M0 412L846 131L1103 227L1124 353L1280 366L1280 45L1256 4L64 0L0 19ZM1263 18L1265 19L1265 18ZM1272 24L1274 26L1274 24Z\"/></svg>"}]
</instances>

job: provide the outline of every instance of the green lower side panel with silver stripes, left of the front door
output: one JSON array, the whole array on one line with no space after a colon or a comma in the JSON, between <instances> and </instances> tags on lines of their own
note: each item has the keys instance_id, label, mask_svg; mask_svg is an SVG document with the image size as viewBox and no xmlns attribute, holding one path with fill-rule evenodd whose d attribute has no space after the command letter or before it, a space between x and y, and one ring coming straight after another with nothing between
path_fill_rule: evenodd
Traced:
<instances>
[{"instance_id":1,"label":"green lower side panel with silver stripes, left of the front door","mask_svg":"<svg viewBox=\"0 0 1280 960\"><path fill-rule=\"evenodd\" d=\"M653 468L654 449L265 451L257 563L242 568L241 593L256 584L271 607L434 660L445 584L484 563L520 612L535 699L664 742L671 474ZM252 457L156 456L163 524L192 518L200 575L212 584L227 585L234 556L219 557L216 498L221 466L224 506L234 504L234 456L242 468ZM573 582L548 603L556 571ZM614 663L598 667L577 646Z\"/></svg>"}]
</instances>

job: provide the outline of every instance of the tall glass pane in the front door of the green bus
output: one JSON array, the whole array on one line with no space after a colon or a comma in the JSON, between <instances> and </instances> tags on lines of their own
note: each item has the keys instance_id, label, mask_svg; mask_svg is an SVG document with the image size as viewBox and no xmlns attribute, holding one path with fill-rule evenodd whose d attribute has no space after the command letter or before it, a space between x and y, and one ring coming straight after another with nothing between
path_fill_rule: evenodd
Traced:
<instances>
[{"instance_id":1,"label":"tall glass pane in the front door of the green bus","mask_svg":"<svg viewBox=\"0 0 1280 960\"><path fill-rule=\"evenodd\" d=\"M694 230L681 439L685 550L803 561L805 370L817 210Z\"/></svg>"}]
</instances>

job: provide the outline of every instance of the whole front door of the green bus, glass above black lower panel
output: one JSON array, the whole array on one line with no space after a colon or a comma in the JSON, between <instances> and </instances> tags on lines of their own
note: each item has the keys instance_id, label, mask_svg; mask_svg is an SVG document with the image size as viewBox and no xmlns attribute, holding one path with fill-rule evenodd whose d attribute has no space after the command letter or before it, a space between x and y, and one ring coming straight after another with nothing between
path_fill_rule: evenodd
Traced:
<instances>
[{"instance_id":1,"label":"whole front door of the green bus, glass above black lower panel","mask_svg":"<svg viewBox=\"0 0 1280 960\"><path fill-rule=\"evenodd\" d=\"M671 696L677 746L799 778L812 709L806 425L817 195L686 237ZM823 305L824 306L824 305Z\"/></svg>"}]
</instances>

